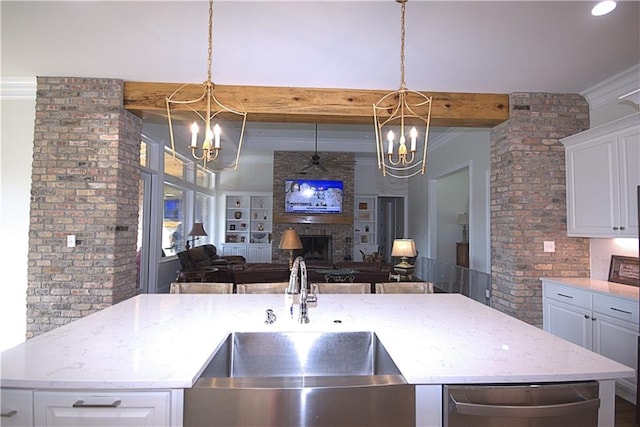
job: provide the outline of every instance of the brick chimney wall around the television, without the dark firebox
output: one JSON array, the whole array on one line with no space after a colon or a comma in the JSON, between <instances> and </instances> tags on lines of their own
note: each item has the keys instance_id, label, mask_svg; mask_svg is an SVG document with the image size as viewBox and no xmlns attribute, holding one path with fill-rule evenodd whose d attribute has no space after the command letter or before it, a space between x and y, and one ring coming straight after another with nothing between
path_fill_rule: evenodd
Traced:
<instances>
[{"instance_id":1,"label":"brick chimney wall around the television, without the dark firebox","mask_svg":"<svg viewBox=\"0 0 640 427\"><path fill-rule=\"evenodd\" d=\"M311 153L305 153L311 156ZM284 183L286 179L332 179L343 181L342 212L348 218L353 219L353 192L355 189L355 162L353 153L318 153L321 159L331 157L334 161L326 163L327 171L319 168L310 168L308 174L300 175L300 169L306 164L304 157L299 157L291 152L277 151L273 153L273 215L284 215ZM327 214L329 217L330 214ZM299 224L299 223L274 223L273 224L273 262L286 263L289 260L288 251L278 248L282 233L289 227L293 227L298 234L331 235L333 261L342 261L346 253L346 239L353 239L353 223L350 224ZM352 247L349 248L352 250Z\"/></svg>"}]
</instances>

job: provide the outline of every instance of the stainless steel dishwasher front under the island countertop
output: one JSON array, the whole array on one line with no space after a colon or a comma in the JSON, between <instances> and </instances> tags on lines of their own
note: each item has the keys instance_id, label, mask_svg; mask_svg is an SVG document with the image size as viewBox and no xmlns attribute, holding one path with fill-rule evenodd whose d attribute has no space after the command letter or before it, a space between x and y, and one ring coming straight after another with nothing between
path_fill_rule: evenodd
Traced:
<instances>
[{"instance_id":1,"label":"stainless steel dishwasher front under the island countertop","mask_svg":"<svg viewBox=\"0 0 640 427\"><path fill-rule=\"evenodd\" d=\"M598 382L447 385L445 427L596 427Z\"/></svg>"}]
</instances>

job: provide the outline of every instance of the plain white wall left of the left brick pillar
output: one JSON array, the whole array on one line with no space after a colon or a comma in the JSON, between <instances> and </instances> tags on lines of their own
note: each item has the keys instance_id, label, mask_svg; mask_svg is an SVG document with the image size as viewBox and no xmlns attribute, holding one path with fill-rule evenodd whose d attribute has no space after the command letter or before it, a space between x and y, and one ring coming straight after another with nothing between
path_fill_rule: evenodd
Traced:
<instances>
[{"instance_id":1,"label":"plain white wall left of the left brick pillar","mask_svg":"<svg viewBox=\"0 0 640 427\"><path fill-rule=\"evenodd\" d=\"M25 340L35 78L3 80L0 92L0 350Z\"/></svg>"}]
</instances>

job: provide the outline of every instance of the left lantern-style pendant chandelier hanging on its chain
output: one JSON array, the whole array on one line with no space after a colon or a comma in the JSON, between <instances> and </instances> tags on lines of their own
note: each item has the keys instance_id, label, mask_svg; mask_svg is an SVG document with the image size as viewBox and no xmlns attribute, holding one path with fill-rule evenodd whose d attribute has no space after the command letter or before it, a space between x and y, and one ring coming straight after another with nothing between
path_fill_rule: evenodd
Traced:
<instances>
[{"instance_id":1,"label":"left lantern-style pendant chandelier hanging on its chain","mask_svg":"<svg viewBox=\"0 0 640 427\"><path fill-rule=\"evenodd\" d=\"M180 117L186 114L191 116L195 121L191 124L189 130L191 139L189 148L192 156L201 160L205 169L212 172L221 172L223 170L238 170L238 162L240 160L240 151L242 149L242 139L244 138L244 128L247 121L247 113L240 109L232 108L222 104L215 96L215 84L211 81L211 55L213 52L213 0L209 0L209 50L207 61L207 80L202 85L185 84L179 87L175 92L166 99L167 118L169 120L169 134L171 139L171 150L173 157L176 156L174 117ZM184 99L187 94L194 93L198 86L202 90L202 94L195 99ZM182 93L182 96L181 96ZM201 109L205 109L201 111ZM186 117L184 117L186 119ZM221 121L225 121L228 128L223 131L220 125ZM235 131L231 130L232 123L239 123L240 128ZM213 124L213 127L212 127ZM202 127L202 128L201 128ZM239 137L234 138L237 133ZM202 142L198 145L198 139ZM224 147L223 147L224 146ZM235 146L235 148L234 148ZM227 153L231 154L235 149L233 157L227 155L224 159L221 156L223 148ZM226 159L226 160L225 160ZM211 163L207 167L207 164Z\"/></svg>"}]
</instances>

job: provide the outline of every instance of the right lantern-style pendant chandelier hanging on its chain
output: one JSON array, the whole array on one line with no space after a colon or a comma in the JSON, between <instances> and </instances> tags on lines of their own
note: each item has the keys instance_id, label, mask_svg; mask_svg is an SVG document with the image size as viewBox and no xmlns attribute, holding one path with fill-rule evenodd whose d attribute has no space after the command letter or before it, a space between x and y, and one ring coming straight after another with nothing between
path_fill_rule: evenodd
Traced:
<instances>
[{"instance_id":1,"label":"right lantern-style pendant chandelier hanging on its chain","mask_svg":"<svg viewBox=\"0 0 640 427\"><path fill-rule=\"evenodd\" d=\"M402 5L400 42L400 88L373 104L378 169L383 176L410 178L424 174L431 121L431 97L407 89L404 81L404 22L407 0ZM397 142L396 142L397 138Z\"/></svg>"}]
</instances>

